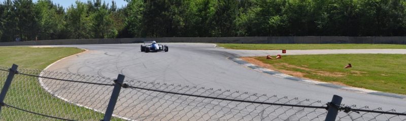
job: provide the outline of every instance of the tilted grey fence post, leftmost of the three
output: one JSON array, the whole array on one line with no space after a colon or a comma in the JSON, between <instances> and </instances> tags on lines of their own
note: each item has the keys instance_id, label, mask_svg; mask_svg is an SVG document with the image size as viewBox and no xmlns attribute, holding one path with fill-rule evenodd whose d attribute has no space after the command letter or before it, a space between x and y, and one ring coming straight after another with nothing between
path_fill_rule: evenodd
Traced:
<instances>
[{"instance_id":1,"label":"tilted grey fence post, leftmost of the three","mask_svg":"<svg viewBox=\"0 0 406 121\"><path fill-rule=\"evenodd\" d=\"M6 98L7 91L9 91L9 87L11 85L11 81L14 78L15 72L17 72L18 65L13 64L13 66L9 70L9 75L7 76L6 82L4 83L2 92L0 93L0 112L2 112L3 101Z\"/></svg>"}]
</instances>

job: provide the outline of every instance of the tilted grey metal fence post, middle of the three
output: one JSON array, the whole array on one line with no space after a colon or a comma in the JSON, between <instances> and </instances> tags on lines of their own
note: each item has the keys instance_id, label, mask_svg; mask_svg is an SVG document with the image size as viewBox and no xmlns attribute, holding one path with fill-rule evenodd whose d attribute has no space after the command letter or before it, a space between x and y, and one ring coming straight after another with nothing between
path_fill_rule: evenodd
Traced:
<instances>
[{"instance_id":1,"label":"tilted grey metal fence post, middle of the three","mask_svg":"<svg viewBox=\"0 0 406 121\"><path fill-rule=\"evenodd\" d=\"M107 106L103 121L110 121L111 116L113 115L113 110L116 106L117 98L121 91L121 84L124 82L124 77L124 75L118 74L117 80L115 80L116 83L114 84L113 93L111 94L109 105Z\"/></svg>"}]
</instances>

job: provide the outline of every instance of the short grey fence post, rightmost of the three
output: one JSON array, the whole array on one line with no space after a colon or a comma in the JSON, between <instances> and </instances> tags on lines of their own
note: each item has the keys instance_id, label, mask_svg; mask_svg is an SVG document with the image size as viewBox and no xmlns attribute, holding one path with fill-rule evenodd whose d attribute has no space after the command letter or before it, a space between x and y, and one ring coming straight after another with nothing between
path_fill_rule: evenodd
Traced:
<instances>
[{"instance_id":1,"label":"short grey fence post, rightmost of the three","mask_svg":"<svg viewBox=\"0 0 406 121\"><path fill-rule=\"evenodd\" d=\"M329 107L328 107L326 121L335 120L335 117L337 117L337 113L339 112L339 108L334 105L341 105L342 100L343 100L343 97L340 97L338 95L333 96L333 99L331 99L331 102L330 102L331 105L329 105Z\"/></svg>"}]
</instances>

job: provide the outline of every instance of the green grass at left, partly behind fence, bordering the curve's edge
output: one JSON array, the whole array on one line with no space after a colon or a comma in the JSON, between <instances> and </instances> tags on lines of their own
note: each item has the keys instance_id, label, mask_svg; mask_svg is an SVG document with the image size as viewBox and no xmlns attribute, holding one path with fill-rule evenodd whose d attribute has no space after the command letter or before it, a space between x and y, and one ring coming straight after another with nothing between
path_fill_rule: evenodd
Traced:
<instances>
[{"instance_id":1,"label":"green grass at left, partly behind fence, bordering the curve's edge","mask_svg":"<svg viewBox=\"0 0 406 121\"><path fill-rule=\"evenodd\" d=\"M19 65L18 68L30 68L30 69L44 69L49 64L70 56L77 53L83 52L81 49L77 48L29 48L29 47L0 47L0 65L11 67L13 63ZM4 82L6 80L8 72L1 72L0 74L0 88L3 88ZM18 77L18 75L16 76ZM48 92L43 90L37 81L37 78L30 77L26 78L28 80L19 80L14 79L12 85L9 89L9 94L6 96L6 101L10 104L15 104L19 102L19 104L14 105L17 107L25 107L25 109L45 113L45 112L53 112L50 114L59 114L63 117L72 117L78 118L77 115L83 115L81 120L98 120L103 119L104 114L94 112L93 110L79 107L79 106L69 106L66 107L67 102L60 100L56 97L53 97ZM24 81L26 83L22 83L19 81ZM20 89L23 88L23 89ZM39 92L40 91L40 92ZM42 91L42 92L41 92ZM41 96L39 95L41 94ZM31 97L24 97L24 96L31 96ZM41 99L38 99L41 98ZM9 100L8 100L9 99ZM13 102L13 100L18 100L17 102ZM7 102L6 102L7 103ZM46 106L44 108L44 106ZM51 107L49 107L51 106ZM53 109L53 108L61 108L61 109ZM59 112L54 112L59 111ZM61 113L60 111L63 111ZM81 112L81 114L76 114ZM47 114L47 113L45 113ZM88 116L87 116L88 115ZM53 115L55 116L55 115ZM52 118L47 118L40 115L34 115L23 111L18 111L13 108L3 107L2 112L0 114L2 119L0 120L16 120L16 119L32 119L32 120L54 120ZM58 117L58 116L57 116ZM96 119L94 119L96 117ZM120 120L120 119L115 119Z\"/></svg>"}]
</instances>

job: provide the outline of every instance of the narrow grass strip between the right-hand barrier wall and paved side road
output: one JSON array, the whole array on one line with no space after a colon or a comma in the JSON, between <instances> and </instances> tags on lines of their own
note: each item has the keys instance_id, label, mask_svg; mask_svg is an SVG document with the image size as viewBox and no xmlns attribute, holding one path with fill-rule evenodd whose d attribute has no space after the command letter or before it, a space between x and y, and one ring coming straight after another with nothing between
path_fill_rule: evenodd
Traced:
<instances>
[{"instance_id":1,"label":"narrow grass strip between the right-hand barrier wall and paved side road","mask_svg":"<svg viewBox=\"0 0 406 121\"><path fill-rule=\"evenodd\" d=\"M406 45L390 44L217 44L237 50L324 50L324 49L406 49Z\"/></svg>"}]
</instances>

